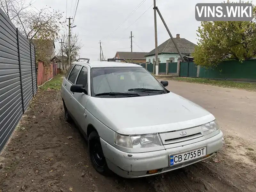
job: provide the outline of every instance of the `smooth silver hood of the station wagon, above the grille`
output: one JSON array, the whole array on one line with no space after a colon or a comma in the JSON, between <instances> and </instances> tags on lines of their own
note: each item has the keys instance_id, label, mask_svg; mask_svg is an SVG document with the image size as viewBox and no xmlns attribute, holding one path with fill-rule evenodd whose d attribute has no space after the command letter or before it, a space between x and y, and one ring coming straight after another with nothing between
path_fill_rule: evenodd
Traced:
<instances>
[{"instance_id":1,"label":"smooth silver hood of the station wagon, above the grille","mask_svg":"<svg viewBox=\"0 0 256 192\"><path fill-rule=\"evenodd\" d=\"M124 135L176 131L215 120L204 108L172 92L128 98L90 97L86 109Z\"/></svg>"}]
</instances>

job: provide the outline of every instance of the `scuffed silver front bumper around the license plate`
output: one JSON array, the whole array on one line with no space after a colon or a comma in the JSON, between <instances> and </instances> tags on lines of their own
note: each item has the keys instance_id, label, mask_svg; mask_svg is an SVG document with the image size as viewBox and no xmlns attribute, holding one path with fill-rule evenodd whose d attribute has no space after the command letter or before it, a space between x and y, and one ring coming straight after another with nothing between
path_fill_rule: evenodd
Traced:
<instances>
[{"instance_id":1,"label":"scuffed silver front bumper around the license plate","mask_svg":"<svg viewBox=\"0 0 256 192\"><path fill-rule=\"evenodd\" d=\"M100 141L108 168L121 177L137 178L179 169L214 155L223 145L223 133L220 131L219 134L209 139L189 145L143 153L123 152L108 144L101 138ZM171 167L169 166L168 156L170 154L182 153L184 151L190 151L204 146L206 146L206 154L210 156L201 157ZM147 174L147 171L156 169L158 169L157 173Z\"/></svg>"}]
</instances>

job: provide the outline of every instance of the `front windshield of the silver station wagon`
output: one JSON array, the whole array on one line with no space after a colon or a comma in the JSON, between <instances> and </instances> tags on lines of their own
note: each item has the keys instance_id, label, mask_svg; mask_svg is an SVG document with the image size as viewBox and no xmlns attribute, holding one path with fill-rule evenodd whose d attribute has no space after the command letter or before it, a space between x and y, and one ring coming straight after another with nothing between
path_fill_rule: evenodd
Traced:
<instances>
[{"instance_id":1,"label":"front windshield of the silver station wagon","mask_svg":"<svg viewBox=\"0 0 256 192\"><path fill-rule=\"evenodd\" d=\"M100 93L139 92L136 89L165 91L164 87L142 67L92 68L92 96ZM134 90L135 89L135 90Z\"/></svg>"}]
</instances>

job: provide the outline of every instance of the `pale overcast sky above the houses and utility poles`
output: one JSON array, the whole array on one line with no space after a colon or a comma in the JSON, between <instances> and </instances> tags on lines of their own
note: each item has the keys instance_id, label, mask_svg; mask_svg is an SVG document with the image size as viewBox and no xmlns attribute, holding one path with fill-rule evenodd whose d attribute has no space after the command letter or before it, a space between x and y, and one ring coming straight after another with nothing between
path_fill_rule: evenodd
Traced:
<instances>
[{"instance_id":1,"label":"pale overcast sky above the houses and utility poles","mask_svg":"<svg viewBox=\"0 0 256 192\"><path fill-rule=\"evenodd\" d=\"M200 22L195 19L195 5L197 3L221 3L222 1L157 0L156 5L162 13L173 37L179 33L180 38L186 38L196 44L196 30ZM67 12L66 0L35 0L33 5L37 9L47 5L53 9L60 10L64 12L63 20L65 20L66 15L67 17L73 17L77 0L67 0L67 2ZM142 50L144 52L150 52L154 49L153 0L145 0L116 30L118 25L141 2L142 0L80 0L74 20L74 25L77 27L72 29L72 32L77 33L84 44L80 57L98 60L100 56L100 44L98 43L100 40L103 42L102 49L105 58L113 58L117 51L131 51L131 40L129 38L131 31L134 36L133 52L142 52ZM256 0L253 0L253 3L255 4ZM149 7L150 9L148 9ZM145 12L147 9L148 11ZM137 21L134 22L135 20ZM170 38L158 15L157 35L158 45ZM56 42L55 46L57 48L60 44Z\"/></svg>"}]
</instances>

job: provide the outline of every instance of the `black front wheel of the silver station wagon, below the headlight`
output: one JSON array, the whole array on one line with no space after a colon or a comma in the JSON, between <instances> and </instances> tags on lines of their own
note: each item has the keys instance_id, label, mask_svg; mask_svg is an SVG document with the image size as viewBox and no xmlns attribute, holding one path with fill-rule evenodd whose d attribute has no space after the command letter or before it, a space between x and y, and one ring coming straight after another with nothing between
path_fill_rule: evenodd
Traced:
<instances>
[{"instance_id":1,"label":"black front wheel of the silver station wagon, below the headlight","mask_svg":"<svg viewBox=\"0 0 256 192\"><path fill-rule=\"evenodd\" d=\"M109 174L108 165L100 144L100 137L96 131L91 132L89 135L88 149L94 169L102 175Z\"/></svg>"}]
</instances>

